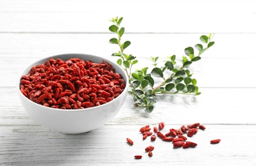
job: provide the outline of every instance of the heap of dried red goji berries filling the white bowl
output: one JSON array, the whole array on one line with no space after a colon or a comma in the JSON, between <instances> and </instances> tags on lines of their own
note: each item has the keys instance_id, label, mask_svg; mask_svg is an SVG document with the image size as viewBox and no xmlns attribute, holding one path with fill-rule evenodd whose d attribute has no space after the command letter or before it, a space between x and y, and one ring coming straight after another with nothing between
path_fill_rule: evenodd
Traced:
<instances>
[{"instance_id":1,"label":"heap of dried red goji berries filling the white bowl","mask_svg":"<svg viewBox=\"0 0 256 166\"><path fill-rule=\"evenodd\" d=\"M79 58L49 59L22 75L21 93L31 101L56 109L84 109L110 102L125 82L111 64Z\"/></svg>"}]
</instances>

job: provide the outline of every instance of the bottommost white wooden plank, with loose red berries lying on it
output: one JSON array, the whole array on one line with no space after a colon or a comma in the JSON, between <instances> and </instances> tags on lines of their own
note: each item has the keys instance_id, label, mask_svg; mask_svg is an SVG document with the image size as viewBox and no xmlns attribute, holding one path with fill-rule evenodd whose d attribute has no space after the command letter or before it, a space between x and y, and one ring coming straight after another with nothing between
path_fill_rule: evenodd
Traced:
<instances>
[{"instance_id":1,"label":"bottommost white wooden plank, with loose red berries lying on it","mask_svg":"<svg viewBox=\"0 0 256 166\"><path fill-rule=\"evenodd\" d=\"M141 125L107 125L81 135L64 135L41 126L1 128L1 165L255 165L255 141L243 142L244 135L256 137L255 125L207 125L189 138L195 148L174 149L171 142L157 138L142 140ZM169 128L180 125L166 125ZM239 131L239 132L237 132ZM237 134L239 133L239 134ZM126 138L133 140L133 146ZM115 141L113 141L113 139ZM221 139L219 144L210 144ZM150 158L144 151L155 147ZM121 150L121 153L120 153ZM135 160L134 155L142 155Z\"/></svg>"}]
</instances>

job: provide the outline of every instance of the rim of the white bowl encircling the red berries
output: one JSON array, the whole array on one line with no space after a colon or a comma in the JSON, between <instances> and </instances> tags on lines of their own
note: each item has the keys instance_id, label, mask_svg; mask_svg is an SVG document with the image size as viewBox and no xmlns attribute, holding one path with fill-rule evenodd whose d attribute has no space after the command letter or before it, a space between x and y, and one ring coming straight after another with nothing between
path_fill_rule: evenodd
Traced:
<instances>
[{"instance_id":1,"label":"rim of the white bowl encircling the red berries","mask_svg":"<svg viewBox=\"0 0 256 166\"><path fill-rule=\"evenodd\" d=\"M117 68L119 68L119 69L123 72L122 77L123 77L123 79L124 79L124 82L126 83L123 92L122 92L121 94L119 94L119 96L117 96L116 98L114 98L114 100L111 100L110 102L107 102L107 103L105 103L105 104L103 104L103 105L98 105L98 106L89 107L89 108L85 108L85 109L56 109L56 108L46 107L46 106L44 106L44 105L40 105L40 104L38 104L38 103L35 103L35 102L31 101L30 99L26 98L26 96L24 96L24 94L21 93L21 89L20 89L20 86L21 86L21 77L22 77L22 75L24 75L24 72L25 72L26 70L30 70L30 68L31 68L32 66L35 66L35 65L37 65L37 64L40 64L40 63L39 63L40 61L47 61L47 60L49 60L51 57L53 57L53 58L58 57L58 58L59 58L59 56L70 56L70 55L74 55L74 58L76 58L76 56L97 57L97 58L99 58L99 59L102 59L102 61L106 61L106 62L109 63L109 64L112 64L112 65L114 64L115 66L117 66ZM81 59L81 58L80 58L80 59ZM87 61L86 59L83 59L83 60L84 60L84 61ZM92 62L93 62L93 61L92 61ZM114 68L114 70L115 70L116 67L113 67L113 68ZM25 74L26 74L26 73L25 73ZM121 74L121 73L119 73L119 74ZM128 81L129 81L128 76L127 76L126 73L124 72L123 68L121 68L121 66L118 66L118 64L115 64L115 63L114 63L113 61L111 61L110 59L107 59L107 58L105 58L105 57L100 57L100 56L94 56L94 55L92 55L92 54L68 53L68 54L58 54L58 55L54 55L54 56L44 57L44 58L38 59L37 61L35 61L35 62L33 62L33 63L30 63L28 66L26 66L26 67L21 71L21 73L19 73L19 76L18 76L18 78L17 78L16 87L17 87L17 91L18 91L19 95L22 96L22 98L24 98L25 100L27 100L27 101L30 102L31 104L38 105L38 107L42 107L43 109L49 109L49 110L54 110L54 111L59 111L59 112L83 112L83 111L89 111L89 110L100 109L101 107L105 107L105 106L110 105L111 103L115 102L115 100L116 100L117 98L120 98L121 96L126 95L126 94L127 94L126 91L128 91L128 87L129 87Z\"/></svg>"}]
</instances>

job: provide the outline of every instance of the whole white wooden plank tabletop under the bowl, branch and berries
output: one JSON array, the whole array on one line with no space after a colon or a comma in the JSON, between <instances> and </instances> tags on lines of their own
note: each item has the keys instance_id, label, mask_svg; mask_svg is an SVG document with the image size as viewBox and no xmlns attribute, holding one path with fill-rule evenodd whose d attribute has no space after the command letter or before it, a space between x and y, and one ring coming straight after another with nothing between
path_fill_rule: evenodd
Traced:
<instances>
[{"instance_id":1,"label":"whole white wooden plank tabletop under the bowl, branch and berries","mask_svg":"<svg viewBox=\"0 0 256 166\"><path fill-rule=\"evenodd\" d=\"M256 165L255 1L1 1L1 165ZM24 110L15 82L23 68L65 53L112 58L108 22L124 17L126 50L144 66L149 57L176 54L215 33L215 45L191 66L200 96L158 96L151 114L132 97L98 130L65 135L36 123ZM135 68L141 68L136 66ZM139 128L201 123L196 148L173 149ZM134 145L126 143L126 137ZM210 144L221 139L219 144ZM155 146L150 158L144 148ZM135 160L134 155L142 155Z\"/></svg>"}]
</instances>

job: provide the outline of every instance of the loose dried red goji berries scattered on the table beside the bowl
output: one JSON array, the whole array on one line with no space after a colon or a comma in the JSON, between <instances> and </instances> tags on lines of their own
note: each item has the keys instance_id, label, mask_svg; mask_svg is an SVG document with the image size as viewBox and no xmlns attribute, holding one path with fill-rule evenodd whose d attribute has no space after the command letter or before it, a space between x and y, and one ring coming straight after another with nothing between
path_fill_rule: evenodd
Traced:
<instances>
[{"instance_id":1,"label":"loose dried red goji berries scattered on the table beside the bowl","mask_svg":"<svg viewBox=\"0 0 256 166\"><path fill-rule=\"evenodd\" d=\"M188 147L196 147L198 144L196 144L195 142L187 141L187 137L192 137L195 133L197 133L198 128L201 130L205 130L205 126L203 126L202 124L194 123L194 124L189 124L187 126L182 125L178 129L171 128L169 129L169 132L164 134L160 132L160 130L162 130L164 126L165 124L163 122L160 122L158 123L158 128L157 126L153 127L153 131L163 141L172 142L173 147L175 148L183 147L183 149ZM143 140L149 136L151 136L150 137L151 141L155 141L157 139L157 136L150 131L151 131L151 128L149 128L149 125L146 125L139 130L139 132L141 132L143 135L142 136ZM187 133L187 137L184 136L185 133ZM126 140L131 146L133 145L133 141L131 139L127 138ZM220 139L210 140L210 144L218 144L220 141L221 141ZM153 149L155 149L155 147L153 146L146 147L145 151L148 151L148 156L153 156L153 153L152 153ZM141 159L142 155L135 155L134 158Z\"/></svg>"}]
</instances>

